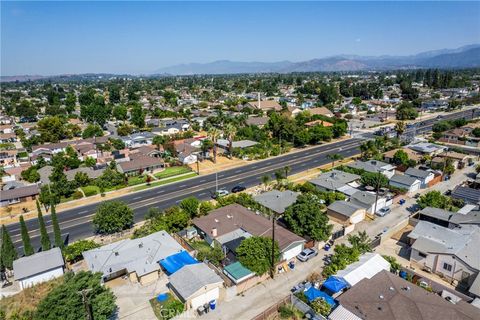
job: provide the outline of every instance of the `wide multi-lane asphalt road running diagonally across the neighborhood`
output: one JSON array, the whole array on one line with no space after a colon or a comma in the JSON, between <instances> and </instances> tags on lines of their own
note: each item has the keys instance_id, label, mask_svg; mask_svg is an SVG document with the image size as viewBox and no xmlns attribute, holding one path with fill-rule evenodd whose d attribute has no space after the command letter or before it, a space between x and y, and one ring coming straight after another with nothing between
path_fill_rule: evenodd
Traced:
<instances>
[{"instance_id":1,"label":"wide multi-lane asphalt road running diagonally across the neighborhood","mask_svg":"<svg viewBox=\"0 0 480 320\"><path fill-rule=\"evenodd\" d=\"M465 117L480 116L480 109L475 109L474 113L471 110L465 112L456 112L443 116L443 119L456 119ZM423 120L416 126L416 133L426 132L431 130L431 127L438 119ZM409 129L408 132L410 132ZM230 190L238 184L246 187L252 187L261 184L261 177L273 173L285 166L291 168L290 174L306 171L330 162L327 155L332 153L339 153L344 157L350 157L359 153L359 145L363 139L349 139L341 142L336 142L327 145L319 145L311 148L305 148L294 153L289 153L263 161L255 162L239 168L220 171L217 174L218 188L226 188ZM129 204L134 210L135 221L142 221L145 214L150 208L156 207L160 209L168 208L178 204L182 199L194 196L200 200L206 200L211 197L211 194L216 188L215 174L198 176L192 179L179 181L169 185L154 187L131 193L116 200L121 200ZM68 241L74 241L89 237L94 234L91 224L93 214L98 203L92 203L82 207L65 210L58 214L60 228L62 234ZM45 216L45 224L53 239L53 231L51 227L50 216ZM26 221L29 230L32 245L35 248L40 247L40 233L38 230L38 220L31 219ZM20 235L20 227L18 223L10 224L7 229L15 243L17 249L22 250L22 241Z\"/></svg>"}]
</instances>

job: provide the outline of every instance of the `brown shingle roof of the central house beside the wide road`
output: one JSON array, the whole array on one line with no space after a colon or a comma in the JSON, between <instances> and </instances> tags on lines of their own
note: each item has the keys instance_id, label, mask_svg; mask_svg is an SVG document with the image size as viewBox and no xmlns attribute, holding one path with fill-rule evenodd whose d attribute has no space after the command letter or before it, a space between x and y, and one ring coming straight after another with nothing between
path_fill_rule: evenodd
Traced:
<instances>
[{"instance_id":1,"label":"brown shingle roof of the central house beside the wide road","mask_svg":"<svg viewBox=\"0 0 480 320\"><path fill-rule=\"evenodd\" d=\"M193 224L210 236L212 229L216 228L217 237L237 229L243 229L255 236L271 237L272 235L271 221L239 204L213 210L207 216L193 219ZM293 242L304 241L302 237L278 224L275 227L275 239L278 241L280 250L286 249Z\"/></svg>"}]
</instances>

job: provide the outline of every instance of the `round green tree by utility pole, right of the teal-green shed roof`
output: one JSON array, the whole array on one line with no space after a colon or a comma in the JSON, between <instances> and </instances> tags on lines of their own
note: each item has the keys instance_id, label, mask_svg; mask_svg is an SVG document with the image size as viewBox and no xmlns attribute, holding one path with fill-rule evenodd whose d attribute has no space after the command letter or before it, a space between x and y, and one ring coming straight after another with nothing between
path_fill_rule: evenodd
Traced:
<instances>
[{"instance_id":1,"label":"round green tree by utility pole, right of the teal-green shed roof","mask_svg":"<svg viewBox=\"0 0 480 320\"><path fill-rule=\"evenodd\" d=\"M278 243L274 244L274 262L280 260L280 249ZM237 258L247 269L257 275L263 275L272 266L272 239L253 236L243 240L237 248Z\"/></svg>"}]
</instances>

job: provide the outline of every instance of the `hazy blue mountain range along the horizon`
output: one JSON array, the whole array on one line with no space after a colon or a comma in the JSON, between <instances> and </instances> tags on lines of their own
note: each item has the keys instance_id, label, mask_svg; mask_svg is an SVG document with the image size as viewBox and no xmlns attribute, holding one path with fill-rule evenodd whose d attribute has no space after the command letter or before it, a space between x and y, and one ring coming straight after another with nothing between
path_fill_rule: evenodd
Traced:
<instances>
[{"instance_id":1,"label":"hazy blue mountain range along the horizon","mask_svg":"<svg viewBox=\"0 0 480 320\"><path fill-rule=\"evenodd\" d=\"M234 74L373 71L415 68L476 68L480 67L480 44L456 49L422 52L410 56L338 55L300 62L238 62L218 60L210 63L179 64L160 68L152 74Z\"/></svg>"}]
</instances>

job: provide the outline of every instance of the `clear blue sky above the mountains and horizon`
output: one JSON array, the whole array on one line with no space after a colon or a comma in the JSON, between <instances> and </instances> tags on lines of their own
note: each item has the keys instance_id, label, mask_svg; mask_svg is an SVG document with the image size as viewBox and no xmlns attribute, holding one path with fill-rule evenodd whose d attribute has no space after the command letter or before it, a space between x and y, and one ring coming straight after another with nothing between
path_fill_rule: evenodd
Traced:
<instances>
[{"instance_id":1,"label":"clear blue sky above the mountains and horizon","mask_svg":"<svg viewBox=\"0 0 480 320\"><path fill-rule=\"evenodd\" d=\"M476 43L480 2L1 1L0 74L149 74Z\"/></svg>"}]
</instances>

